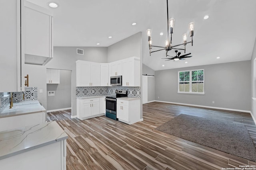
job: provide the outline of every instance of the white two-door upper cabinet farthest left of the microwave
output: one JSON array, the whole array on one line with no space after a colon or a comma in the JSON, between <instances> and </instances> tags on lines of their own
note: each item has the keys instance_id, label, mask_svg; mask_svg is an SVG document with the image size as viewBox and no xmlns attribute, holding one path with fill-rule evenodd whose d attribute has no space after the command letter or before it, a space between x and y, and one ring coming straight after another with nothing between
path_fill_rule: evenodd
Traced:
<instances>
[{"instance_id":1,"label":"white two-door upper cabinet farthest left of the microwave","mask_svg":"<svg viewBox=\"0 0 256 170\"><path fill-rule=\"evenodd\" d=\"M100 63L76 61L76 86L100 86Z\"/></svg>"}]
</instances>

